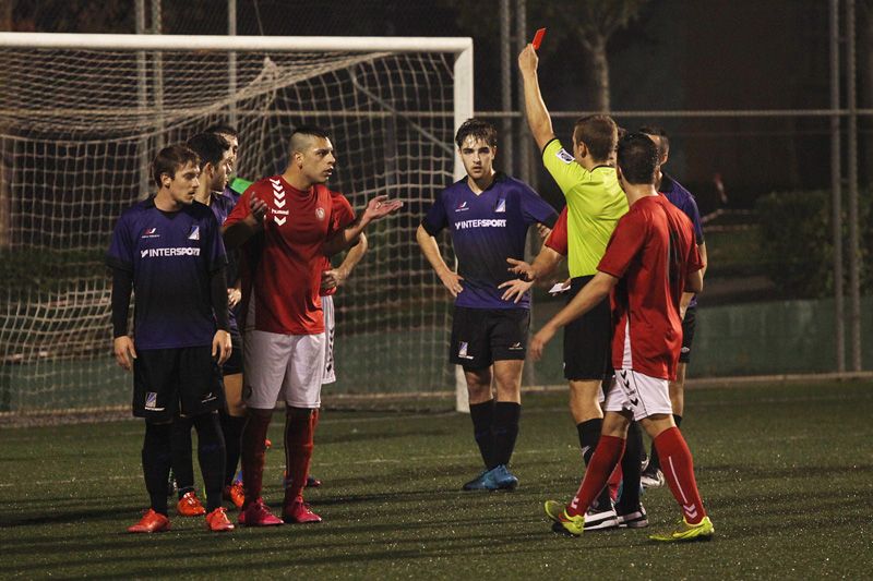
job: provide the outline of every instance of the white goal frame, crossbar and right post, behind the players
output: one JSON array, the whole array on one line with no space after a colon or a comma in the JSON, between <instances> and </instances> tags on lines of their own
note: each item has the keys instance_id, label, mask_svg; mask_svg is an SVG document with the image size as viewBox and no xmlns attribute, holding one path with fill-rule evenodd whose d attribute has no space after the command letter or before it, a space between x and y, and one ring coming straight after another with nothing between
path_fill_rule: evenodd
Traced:
<instances>
[{"instance_id":1,"label":"white goal frame, crossbar and right post, behind the players","mask_svg":"<svg viewBox=\"0 0 873 581\"><path fill-rule=\"evenodd\" d=\"M234 53L263 51L347 51L347 52L445 52L455 56L454 126L474 114L473 38L469 37L357 37L357 36L182 36L123 34L0 33L0 48L81 50L202 50ZM235 59L230 60L230 66ZM235 71L229 71L231 77ZM455 152L454 177L466 172ZM464 372L455 370L455 409L469 411Z\"/></svg>"}]
</instances>

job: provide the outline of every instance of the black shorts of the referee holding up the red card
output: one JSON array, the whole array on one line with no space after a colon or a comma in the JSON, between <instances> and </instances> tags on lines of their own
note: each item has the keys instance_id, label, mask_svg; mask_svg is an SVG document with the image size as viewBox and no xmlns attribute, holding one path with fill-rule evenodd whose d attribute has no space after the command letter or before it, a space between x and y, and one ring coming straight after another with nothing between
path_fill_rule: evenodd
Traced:
<instances>
[{"instance_id":1,"label":"black shorts of the referee holding up the red card","mask_svg":"<svg viewBox=\"0 0 873 581\"><path fill-rule=\"evenodd\" d=\"M570 281L567 302L594 277ZM609 299L564 328L564 378L571 382L603 380L612 376L612 311Z\"/></svg>"}]
</instances>

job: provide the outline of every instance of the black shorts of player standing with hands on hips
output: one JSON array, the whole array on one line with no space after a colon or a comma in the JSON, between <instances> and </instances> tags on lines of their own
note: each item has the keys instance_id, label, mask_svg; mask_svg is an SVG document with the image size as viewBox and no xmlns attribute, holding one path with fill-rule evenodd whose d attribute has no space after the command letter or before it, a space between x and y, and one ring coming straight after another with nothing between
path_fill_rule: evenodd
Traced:
<instances>
[{"instance_id":1,"label":"black shorts of player standing with hands on hips","mask_svg":"<svg viewBox=\"0 0 873 581\"><path fill-rule=\"evenodd\" d=\"M449 361L482 370L495 361L524 360L530 311L456 306Z\"/></svg>"}]
</instances>

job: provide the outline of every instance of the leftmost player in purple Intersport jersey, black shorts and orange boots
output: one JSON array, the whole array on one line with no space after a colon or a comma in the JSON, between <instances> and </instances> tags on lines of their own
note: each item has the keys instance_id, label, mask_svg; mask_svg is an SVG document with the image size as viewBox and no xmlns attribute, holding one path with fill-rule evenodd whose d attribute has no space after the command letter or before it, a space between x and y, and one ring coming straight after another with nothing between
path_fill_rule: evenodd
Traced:
<instances>
[{"instance_id":1,"label":"leftmost player in purple Intersport jersey, black shorts and orange boots","mask_svg":"<svg viewBox=\"0 0 873 581\"><path fill-rule=\"evenodd\" d=\"M194 201L200 159L183 145L162 149L153 162L157 194L125 210L107 253L112 268L113 352L133 370L133 414L145 420L142 462L151 508L128 531L170 528L166 483L172 422L193 419L206 487L206 526L234 528L222 507L225 444L217 410L224 407L218 367L231 352L227 319L227 257L210 209ZM134 332L128 311L136 296Z\"/></svg>"}]
</instances>

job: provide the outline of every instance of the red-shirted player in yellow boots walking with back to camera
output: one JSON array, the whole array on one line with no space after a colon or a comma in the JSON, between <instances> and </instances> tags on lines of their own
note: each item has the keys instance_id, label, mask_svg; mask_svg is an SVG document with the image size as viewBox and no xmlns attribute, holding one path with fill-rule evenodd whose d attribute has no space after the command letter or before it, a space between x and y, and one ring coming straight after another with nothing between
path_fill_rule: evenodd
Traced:
<instances>
[{"instance_id":1,"label":"red-shirted player in yellow boots walking with back to camera","mask_svg":"<svg viewBox=\"0 0 873 581\"><path fill-rule=\"evenodd\" d=\"M713 523L697 492L691 452L673 423L668 391L682 344L680 301L683 292L702 290L703 262L691 221L655 189L655 143L642 133L625 136L619 142L618 165L630 210L619 220L597 275L531 341L538 359L560 327L610 294L617 382L607 394L600 440L576 496L565 507L548 500L546 513L557 532L582 534L584 513L621 458L631 420L637 420L655 441L683 513L677 531L651 538L709 537Z\"/></svg>"}]
</instances>

